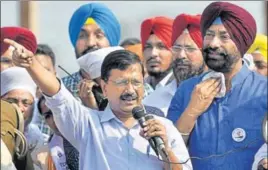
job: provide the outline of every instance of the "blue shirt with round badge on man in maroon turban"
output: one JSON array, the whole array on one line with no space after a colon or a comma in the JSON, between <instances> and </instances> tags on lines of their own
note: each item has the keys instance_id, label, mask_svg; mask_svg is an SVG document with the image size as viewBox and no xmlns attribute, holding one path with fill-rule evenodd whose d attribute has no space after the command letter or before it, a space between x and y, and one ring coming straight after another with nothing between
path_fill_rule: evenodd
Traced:
<instances>
[{"instance_id":1,"label":"blue shirt with round badge on man in maroon turban","mask_svg":"<svg viewBox=\"0 0 268 170\"><path fill-rule=\"evenodd\" d=\"M179 86L172 99L168 119L174 123L179 119L191 99L194 87L204 74L186 80ZM250 170L254 155L264 143L261 127L267 113L267 78L243 65L231 83L231 90L223 98L214 99L207 111L197 119L189 139L190 156L223 154L260 140L243 151L224 157L192 159L194 169ZM237 128L242 128L246 133L246 138L241 142L236 142L232 137Z\"/></svg>"}]
</instances>

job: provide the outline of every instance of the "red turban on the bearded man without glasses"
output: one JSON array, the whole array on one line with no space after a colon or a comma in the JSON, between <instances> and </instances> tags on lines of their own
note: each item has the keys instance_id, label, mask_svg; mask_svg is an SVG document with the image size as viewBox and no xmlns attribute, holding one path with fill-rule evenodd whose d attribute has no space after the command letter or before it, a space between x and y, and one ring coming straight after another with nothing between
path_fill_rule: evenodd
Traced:
<instances>
[{"instance_id":1,"label":"red turban on the bearded man without glasses","mask_svg":"<svg viewBox=\"0 0 268 170\"><path fill-rule=\"evenodd\" d=\"M151 33L155 34L168 47L171 47L173 19L167 17L154 17L146 19L141 24L142 49Z\"/></svg>"}]
</instances>

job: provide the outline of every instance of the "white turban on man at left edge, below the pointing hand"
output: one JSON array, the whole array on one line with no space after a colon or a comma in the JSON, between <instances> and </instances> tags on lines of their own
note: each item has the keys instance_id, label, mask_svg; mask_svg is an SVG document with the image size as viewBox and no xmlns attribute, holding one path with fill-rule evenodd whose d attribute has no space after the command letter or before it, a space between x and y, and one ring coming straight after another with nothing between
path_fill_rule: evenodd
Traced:
<instances>
[{"instance_id":1,"label":"white turban on man at left edge, below the pointing hand","mask_svg":"<svg viewBox=\"0 0 268 170\"><path fill-rule=\"evenodd\" d=\"M25 68L10 67L1 72L1 97L16 89L26 90L35 98L37 86Z\"/></svg>"}]
</instances>

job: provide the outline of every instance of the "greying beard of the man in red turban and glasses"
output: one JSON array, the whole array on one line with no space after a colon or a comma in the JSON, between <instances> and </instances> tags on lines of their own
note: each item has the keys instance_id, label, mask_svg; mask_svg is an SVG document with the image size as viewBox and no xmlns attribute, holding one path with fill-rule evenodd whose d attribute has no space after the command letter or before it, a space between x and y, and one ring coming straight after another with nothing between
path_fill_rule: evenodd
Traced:
<instances>
[{"instance_id":1,"label":"greying beard of the man in red turban and glasses","mask_svg":"<svg viewBox=\"0 0 268 170\"><path fill-rule=\"evenodd\" d=\"M199 67L194 67L189 60L185 60L184 58L176 58L173 62L173 73L177 80L177 85L184 80L202 74L204 69L204 62Z\"/></svg>"}]
</instances>

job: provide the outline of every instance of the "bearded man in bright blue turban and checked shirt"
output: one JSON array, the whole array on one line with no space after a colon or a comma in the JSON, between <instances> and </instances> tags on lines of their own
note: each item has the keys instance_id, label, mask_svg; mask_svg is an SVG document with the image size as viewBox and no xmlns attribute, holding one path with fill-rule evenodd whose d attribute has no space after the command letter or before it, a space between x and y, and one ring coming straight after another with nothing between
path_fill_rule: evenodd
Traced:
<instances>
[{"instance_id":1,"label":"bearded man in bright blue turban and checked shirt","mask_svg":"<svg viewBox=\"0 0 268 170\"><path fill-rule=\"evenodd\" d=\"M77 59L97 49L117 46L120 35L118 20L102 3L82 5L74 12L69 23L69 36ZM62 80L71 93L78 97L78 84L87 77L80 69Z\"/></svg>"}]
</instances>

